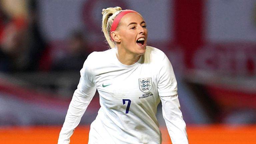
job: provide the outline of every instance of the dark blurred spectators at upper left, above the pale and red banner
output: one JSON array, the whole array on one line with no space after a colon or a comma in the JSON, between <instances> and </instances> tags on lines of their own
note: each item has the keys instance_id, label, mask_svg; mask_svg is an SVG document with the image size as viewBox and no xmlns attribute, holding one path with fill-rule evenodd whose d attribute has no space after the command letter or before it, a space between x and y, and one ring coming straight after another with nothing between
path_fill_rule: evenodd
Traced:
<instances>
[{"instance_id":1,"label":"dark blurred spectators at upper left, above the pale and red banner","mask_svg":"<svg viewBox=\"0 0 256 144\"><path fill-rule=\"evenodd\" d=\"M37 1L0 1L0 72L68 71L81 69L89 54L82 30L74 28L52 56L39 29Z\"/></svg>"}]
</instances>

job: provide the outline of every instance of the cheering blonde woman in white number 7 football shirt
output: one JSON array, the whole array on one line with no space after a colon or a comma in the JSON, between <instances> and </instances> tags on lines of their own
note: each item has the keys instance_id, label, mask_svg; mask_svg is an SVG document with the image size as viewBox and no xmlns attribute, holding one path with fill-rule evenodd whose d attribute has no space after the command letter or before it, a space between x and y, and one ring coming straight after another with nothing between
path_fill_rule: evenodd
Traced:
<instances>
[{"instance_id":1,"label":"cheering blonde woman in white number 7 football shirt","mask_svg":"<svg viewBox=\"0 0 256 144\"><path fill-rule=\"evenodd\" d=\"M102 14L102 30L112 49L86 59L58 143L69 143L97 89L101 108L91 124L89 144L160 144L160 100L172 143L187 144L171 63L162 51L146 46L146 22L120 7Z\"/></svg>"}]
</instances>

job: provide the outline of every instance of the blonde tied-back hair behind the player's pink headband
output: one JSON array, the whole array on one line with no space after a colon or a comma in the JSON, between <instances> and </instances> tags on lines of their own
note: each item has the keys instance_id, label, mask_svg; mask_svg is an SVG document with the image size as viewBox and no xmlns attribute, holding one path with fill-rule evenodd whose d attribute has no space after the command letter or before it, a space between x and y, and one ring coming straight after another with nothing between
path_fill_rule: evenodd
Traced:
<instances>
[{"instance_id":1,"label":"blonde tied-back hair behind the player's pink headband","mask_svg":"<svg viewBox=\"0 0 256 144\"><path fill-rule=\"evenodd\" d=\"M104 33L104 36L105 36L110 48L115 47L115 43L114 43L114 41L111 40L111 37L110 37L110 29L111 29L114 19L122 11L123 10L121 7L114 7L114 8L109 7L109 8L102 10L102 15L103 15L102 16L102 31Z\"/></svg>"}]
</instances>

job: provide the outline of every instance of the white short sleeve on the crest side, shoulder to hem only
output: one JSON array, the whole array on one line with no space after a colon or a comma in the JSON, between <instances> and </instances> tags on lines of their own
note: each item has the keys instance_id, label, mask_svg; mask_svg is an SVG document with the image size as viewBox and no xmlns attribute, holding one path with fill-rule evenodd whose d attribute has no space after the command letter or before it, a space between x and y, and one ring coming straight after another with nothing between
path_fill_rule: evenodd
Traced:
<instances>
[{"instance_id":1,"label":"white short sleeve on the crest side, shoulder to hem only","mask_svg":"<svg viewBox=\"0 0 256 144\"><path fill-rule=\"evenodd\" d=\"M159 96L177 95L177 81L171 65L171 62L164 54L163 61L159 63L157 74Z\"/></svg>"}]
</instances>

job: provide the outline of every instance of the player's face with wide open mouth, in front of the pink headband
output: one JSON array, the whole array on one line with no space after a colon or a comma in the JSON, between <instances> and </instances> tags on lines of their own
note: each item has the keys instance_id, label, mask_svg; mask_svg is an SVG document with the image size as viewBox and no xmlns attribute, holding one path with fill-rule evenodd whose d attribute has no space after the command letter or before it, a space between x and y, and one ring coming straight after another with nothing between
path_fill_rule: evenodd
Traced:
<instances>
[{"instance_id":1,"label":"player's face with wide open mouth, in front of the pink headband","mask_svg":"<svg viewBox=\"0 0 256 144\"><path fill-rule=\"evenodd\" d=\"M122 17L117 28L120 46L127 53L142 55L146 51L148 31L146 23L138 13L128 13Z\"/></svg>"}]
</instances>

